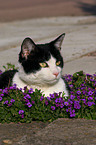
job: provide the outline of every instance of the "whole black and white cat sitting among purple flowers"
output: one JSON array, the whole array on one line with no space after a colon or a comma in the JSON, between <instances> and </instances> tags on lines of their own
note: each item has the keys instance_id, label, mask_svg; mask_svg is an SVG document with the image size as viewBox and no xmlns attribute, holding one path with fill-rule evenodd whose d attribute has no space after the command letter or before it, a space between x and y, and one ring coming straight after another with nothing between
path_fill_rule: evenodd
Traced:
<instances>
[{"instance_id":1,"label":"whole black and white cat sitting among purple flowers","mask_svg":"<svg viewBox=\"0 0 96 145\"><path fill-rule=\"evenodd\" d=\"M31 38L25 38L19 54L19 70L4 72L0 76L0 89L17 84L18 88L41 89L45 97L54 92L68 96L60 54L64 36L65 33L46 44L35 44Z\"/></svg>"}]
</instances>

